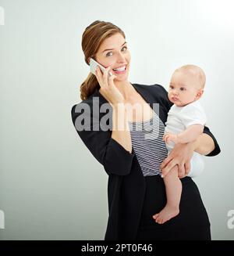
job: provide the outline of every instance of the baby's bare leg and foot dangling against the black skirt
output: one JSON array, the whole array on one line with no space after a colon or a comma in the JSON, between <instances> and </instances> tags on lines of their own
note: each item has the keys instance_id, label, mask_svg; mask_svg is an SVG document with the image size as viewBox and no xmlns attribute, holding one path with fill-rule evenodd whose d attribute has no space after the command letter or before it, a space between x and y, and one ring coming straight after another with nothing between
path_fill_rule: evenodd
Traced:
<instances>
[{"instance_id":1,"label":"baby's bare leg and foot dangling against the black skirt","mask_svg":"<svg viewBox=\"0 0 234 256\"><path fill-rule=\"evenodd\" d=\"M164 182L167 194L167 204L157 215L154 215L155 222L158 222L158 224L163 224L170 218L179 215L179 202L182 193L182 184L178 178L177 165L172 169L172 171L169 171L168 175L165 176Z\"/></svg>"}]
</instances>

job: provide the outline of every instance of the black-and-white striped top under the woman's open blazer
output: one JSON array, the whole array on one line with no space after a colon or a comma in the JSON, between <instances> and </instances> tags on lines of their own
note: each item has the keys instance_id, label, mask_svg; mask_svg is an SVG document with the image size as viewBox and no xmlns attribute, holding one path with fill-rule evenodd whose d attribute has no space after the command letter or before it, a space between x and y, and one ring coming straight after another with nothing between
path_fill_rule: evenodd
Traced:
<instances>
[{"instance_id":1,"label":"black-and-white striped top under the woman's open blazer","mask_svg":"<svg viewBox=\"0 0 234 256\"><path fill-rule=\"evenodd\" d=\"M129 130L137 160L144 176L161 175L160 164L168 156L162 137L165 125L153 110L147 121L129 121Z\"/></svg>"}]
</instances>

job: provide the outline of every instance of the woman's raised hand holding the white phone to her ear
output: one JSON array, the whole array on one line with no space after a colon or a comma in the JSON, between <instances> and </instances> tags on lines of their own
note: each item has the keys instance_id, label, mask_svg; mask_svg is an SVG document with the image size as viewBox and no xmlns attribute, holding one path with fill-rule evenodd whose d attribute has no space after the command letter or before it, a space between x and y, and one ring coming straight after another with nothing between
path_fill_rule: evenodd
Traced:
<instances>
[{"instance_id":1,"label":"woman's raised hand holding the white phone to her ear","mask_svg":"<svg viewBox=\"0 0 234 256\"><path fill-rule=\"evenodd\" d=\"M119 92L119 89L114 84L114 79L116 76L112 74L112 76L108 75L110 67L106 68L104 74L101 73L101 69L97 67L96 69L96 77L97 81L100 85L99 92L102 96L107 99L108 103L112 106L115 106L118 103L124 103L124 98L122 93Z\"/></svg>"}]
</instances>

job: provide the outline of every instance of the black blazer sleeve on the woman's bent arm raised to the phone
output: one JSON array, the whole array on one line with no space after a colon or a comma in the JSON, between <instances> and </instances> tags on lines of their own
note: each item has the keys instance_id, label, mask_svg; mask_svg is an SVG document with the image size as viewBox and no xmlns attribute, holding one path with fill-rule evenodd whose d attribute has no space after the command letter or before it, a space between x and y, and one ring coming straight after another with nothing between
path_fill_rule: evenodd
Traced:
<instances>
[{"instance_id":1,"label":"black blazer sleeve on the woman's bent arm raised to the phone","mask_svg":"<svg viewBox=\"0 0 234 256\"><path fill-rule=\"evenodd\" d=\"M81 114L77 113L76 105L71 110L73 125L76 128L76 118ZM115 139L112 139L111 131L93 131L93 124L95 121L91 115L90 131L79 131L76 129L78 135L90 150L90 153L102 164L108 175L128 175L132 168L133 157L135 153L129 153L122 145ZM133 152L133 150L132 150Z\"/></svg>"}]
</instances>

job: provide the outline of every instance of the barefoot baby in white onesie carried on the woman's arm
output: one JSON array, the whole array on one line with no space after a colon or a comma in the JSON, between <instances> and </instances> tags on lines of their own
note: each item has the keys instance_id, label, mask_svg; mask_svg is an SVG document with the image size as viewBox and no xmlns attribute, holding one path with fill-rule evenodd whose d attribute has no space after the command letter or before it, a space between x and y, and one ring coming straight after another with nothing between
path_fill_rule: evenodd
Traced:
<instances>
[{"instance_id":1,"label":"barefoot baby in white onesie carried on the woman's arm","mask_svg":"<svg viewBox=\"0 0 234 256\"><path fill-rule=\"evenodd\" d=\"M176 143L193 142L203 133L207 121L204 110L198 99L203 94L206 77L200 67L186 65L179 67L173 74L168 90L168 99L174 103L168 112L165 123L165 140L168 153ZM188 176L199 175L204 169L202 156L194 152L190 161ZM179 215L179 202L182 193L182 183L178 177L176 166L164 177L167 204L154 216L155 222L163 224L170 218Z\"/></svg>"}]
</instances>

